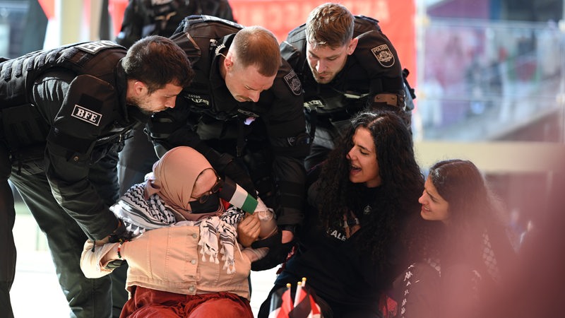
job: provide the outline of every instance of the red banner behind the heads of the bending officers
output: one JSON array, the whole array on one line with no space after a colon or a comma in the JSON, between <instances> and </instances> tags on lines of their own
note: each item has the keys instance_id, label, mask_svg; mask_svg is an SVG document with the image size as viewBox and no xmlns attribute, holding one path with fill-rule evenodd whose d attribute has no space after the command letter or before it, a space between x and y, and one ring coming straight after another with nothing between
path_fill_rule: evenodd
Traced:
<instances>
[{"instance_id":1,"label":"red banner behind the heads of the bending officers","mask_svg":"<svg viewBox=\"0 0 565 318\"><path fill-rule=\"evenodd\" d=\"M237 23L261 25L283 42L293 28L306 22L308 14L323 0L230 0ZM381 30L393 43L403 67L410 70L410 85L416 85L415 1L341 0L353 14L379 20Z\"/></svg>"}]
</instances>

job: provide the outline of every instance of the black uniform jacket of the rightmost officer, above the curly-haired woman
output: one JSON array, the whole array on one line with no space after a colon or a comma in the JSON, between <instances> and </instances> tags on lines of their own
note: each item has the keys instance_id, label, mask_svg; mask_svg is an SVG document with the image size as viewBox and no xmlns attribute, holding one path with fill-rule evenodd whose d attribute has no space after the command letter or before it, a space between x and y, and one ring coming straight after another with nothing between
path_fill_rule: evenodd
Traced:
<instances>
[{"instance_id":1,"label":"black uniform jacket of the rightmost officer, above the curly-haired woman","mask_svg":"<svg viewBox=\"0 0 565 318\"><path fill-rule=\"evenodd\" d=\"M305 29L303 24L290 31L287 40L280 44L280 51L302 81L304 107L317 112L316 127L333 130L331 122L347 121L365 107L385 105L375 99L379 93L396 95L397 106L404 110L407 94L403 69L396 49L381 32L377 20L355 16L353 36L359 38L357 47L347 57L343 70L328 84L314 81L306 59Z\"/></svg>"}]
</instances>

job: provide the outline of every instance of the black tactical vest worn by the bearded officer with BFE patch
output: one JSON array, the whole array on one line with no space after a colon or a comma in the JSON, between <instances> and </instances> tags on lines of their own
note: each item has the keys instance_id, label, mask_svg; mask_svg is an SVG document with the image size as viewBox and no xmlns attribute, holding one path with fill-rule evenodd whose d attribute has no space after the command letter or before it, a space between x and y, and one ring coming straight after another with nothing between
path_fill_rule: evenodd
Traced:
<instances>
[{"instance_id":1,"label":"black tactical vest worn by the bearded officer with BFE patch","mask_svg":"<svg viewBox=\"0 0 565 318\"><path fill-rule=\"evenodd\" d=\"M71 71L76 76L90 75L107 83L115 83L119 61L126 49L111 41L82 42L56 49L42 50L9 59L0 64L0 140L6 142L20 157L42 157L52 118L44 118L32 100L32 87L48 71ZM126 127L115 129L114 135L123 138ZM124 135L125 136L125 135ZM103 137L103 138L102 138ZM82 148L111 143L110 136L89 141ZM104 139L104 140L102 140ZM112 139L112 140L110 140ZM16 155L16 154L13 154Z\"/></svg>"}]
</instances>

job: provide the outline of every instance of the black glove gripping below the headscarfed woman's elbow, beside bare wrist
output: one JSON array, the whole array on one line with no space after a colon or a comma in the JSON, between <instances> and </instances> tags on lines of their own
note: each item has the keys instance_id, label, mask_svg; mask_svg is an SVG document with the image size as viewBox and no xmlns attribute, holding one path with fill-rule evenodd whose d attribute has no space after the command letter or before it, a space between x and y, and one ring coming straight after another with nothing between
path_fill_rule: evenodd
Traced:
<instances>
[{"instance_id":1,"label":"black glove gripping below the headscarfed woman's elbow, beside bare wrist","mask_svg":"<svg viewBox=\"0 0 565 318\"><path fill-rule=\"evenodd\" d=\"M251 271L265 271L283 263L294 245L294 240L283 243L283 232L280 230L273 236L253 242L252 248L268 247L269 252L262 259L251 263Z\"/></svg>"}]
</instances>

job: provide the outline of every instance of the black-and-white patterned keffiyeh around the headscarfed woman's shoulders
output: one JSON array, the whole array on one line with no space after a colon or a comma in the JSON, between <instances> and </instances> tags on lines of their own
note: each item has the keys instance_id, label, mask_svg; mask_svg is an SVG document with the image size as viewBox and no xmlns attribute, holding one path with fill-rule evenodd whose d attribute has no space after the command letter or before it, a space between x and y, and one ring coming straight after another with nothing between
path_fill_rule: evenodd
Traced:
<instances>
[{"instance_id":1,"label":"black-and-white patterned keffiyeh around the headscarfed woman's shoulders","mask_svg":"<svg viewBox=\"0 0 565 318\"><path fill-rule=\"evenodd\" d=\"M158 194L153 194L148 200L145 199L145 184L135 184L124 196L121 196L117 204L110 210L124 222L126 226L126 237L129 239L141 235L148 230L164 228L166 226L198 226L200 228L200 240L202 261L219 264L218 253L222 254L225 261L223 269L227 273L235 273L234 246L237 244L237 232L235 230L239 220L242 220L244 211L233 206L228 208L221 216L210 216L201 220L183 220L177 222L172 213L172 208L163 202ZM220 245L218 247L218 234Z\"/></svg>"}]
</instances>

